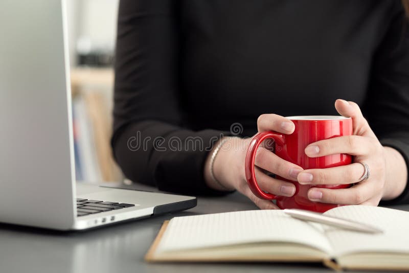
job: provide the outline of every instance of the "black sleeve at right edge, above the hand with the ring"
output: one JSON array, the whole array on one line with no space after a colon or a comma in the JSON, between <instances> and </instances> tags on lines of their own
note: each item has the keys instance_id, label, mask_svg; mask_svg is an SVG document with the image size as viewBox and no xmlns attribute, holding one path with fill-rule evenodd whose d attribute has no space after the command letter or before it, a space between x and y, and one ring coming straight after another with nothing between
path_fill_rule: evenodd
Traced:
<instances>
[{"instance_id":1,"label":"black sleeve at right edge, above the hand with the ring","mask_svg":"<svg viewBox=\"0 0 409 273\"><path fill-rule=\"evenodd\" d=\"M398 150L409 166L409 24L400 3L373 58L371 81L363 112L383 146ZM402 170L404 171L404 170ZM409 184L396 199L409 202Z\"/></svg>"}]
</instances>

